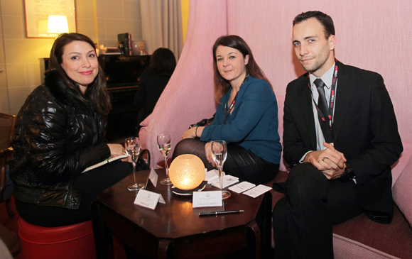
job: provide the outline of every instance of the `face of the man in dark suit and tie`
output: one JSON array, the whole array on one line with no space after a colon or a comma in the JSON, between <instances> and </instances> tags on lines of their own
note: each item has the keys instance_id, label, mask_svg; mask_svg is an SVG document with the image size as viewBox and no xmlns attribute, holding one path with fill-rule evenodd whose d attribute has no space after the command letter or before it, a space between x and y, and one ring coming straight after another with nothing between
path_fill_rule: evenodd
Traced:
<instances>
[{"instance_id":1,"label":"face of the man in dark suit and tie","mask_svg":"<svg viewBox=\"0 0 412 259\"><path fill-rule=\"evenodd\" d=\"M296 57L303 68L315 77L322 77L332 67L335 62L335 45L335 35L326 39L323 26L316 18L309 18L293 26Z\"/></svg>"}]
</instances>

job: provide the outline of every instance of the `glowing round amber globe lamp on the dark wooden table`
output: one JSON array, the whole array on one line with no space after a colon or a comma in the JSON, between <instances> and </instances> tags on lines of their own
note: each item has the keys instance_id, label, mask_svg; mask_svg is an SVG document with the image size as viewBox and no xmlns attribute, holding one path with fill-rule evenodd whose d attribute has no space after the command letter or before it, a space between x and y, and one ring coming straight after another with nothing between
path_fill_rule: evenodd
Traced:
<instances>
[{"instance_id":1,"label":"glowing round amber globe lamp on the dark wooden table","mask_svg":"<svg viewBox=\"0 0 412 259\"><path fill-rule=\"evenodd\" d=\"M178 189L195 189L205 180L205 165L196 155L179 155L170 164L169 177Z\"/></svg>"}]
</instances>

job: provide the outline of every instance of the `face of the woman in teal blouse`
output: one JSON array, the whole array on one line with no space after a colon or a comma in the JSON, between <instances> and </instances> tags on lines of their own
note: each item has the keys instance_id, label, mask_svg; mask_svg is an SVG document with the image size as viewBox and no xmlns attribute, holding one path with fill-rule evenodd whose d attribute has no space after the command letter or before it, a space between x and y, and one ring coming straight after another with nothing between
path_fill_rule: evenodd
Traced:
<instances>
[{"instance_id":1,"label":"face of the woman in teal blouse","mask_svg":"<svg viewBox=\"0 0 412 259\"><path fill-rule=\"evenodd\" d=\"M246 77L246 64L249 55L244 57L242 53L235 49L219 45L216 49L216 65L220 75L235 87L242 84Z\"/></svg>"}]
</instances>

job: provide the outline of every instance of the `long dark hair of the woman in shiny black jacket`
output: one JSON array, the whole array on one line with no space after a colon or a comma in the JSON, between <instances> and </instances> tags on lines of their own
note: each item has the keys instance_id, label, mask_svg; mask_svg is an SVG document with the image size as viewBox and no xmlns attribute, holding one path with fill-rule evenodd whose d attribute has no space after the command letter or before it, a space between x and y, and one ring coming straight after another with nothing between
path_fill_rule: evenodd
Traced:
<instances>
[{"instance_id":1,"label":"long dark hair of the woman in shiny black jacket","mask_svg":"<svg viewBox=\"0 0 412 259\"><path fill-rule=\"evenodd\" d=\"M89 106L89 102L92 102L92 107L95 111L99 114L107 115L109 114L110 109L112 109L112 104L110 104L109 94L107 94L106 79L102 67L99 65L99 72L93 82L87 86L85 95L80 91L77 82L70 79L62 67L65 45L72 43L73 41L84 41L85 43L89 43L93 49L96 50L93 40L86 35L80 33L60 34L58 38L56 38L53 48L50 50L49 67L45 72L45 75L51 70L57 70L60 77L65 81L66 86L72 89L80 100L87 106ZM90 101L87 101L85 97Z\"/></svg>"}]
</instances>

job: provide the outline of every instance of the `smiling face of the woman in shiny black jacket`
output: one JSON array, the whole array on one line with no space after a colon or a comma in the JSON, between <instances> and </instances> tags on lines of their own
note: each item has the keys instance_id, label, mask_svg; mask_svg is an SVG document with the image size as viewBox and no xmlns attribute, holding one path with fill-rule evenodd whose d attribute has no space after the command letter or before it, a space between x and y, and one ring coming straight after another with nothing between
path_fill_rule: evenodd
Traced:
<instances>
[{"instance_id":1,"label":"smiling face of the woman in shiny black jacket","mask_svg":"<svg viewBox=\"0 0 412 259\"><path fill-rule=\"evenodd\" d=\"M79 84L85 94L87 86L91 84L99 72L99 62L96 51L85 41L75 40L63 48L62 67L67 77Z\"/></svg>"}]
</instances>

